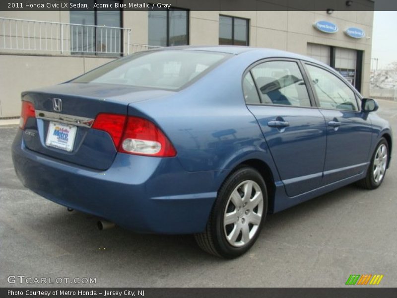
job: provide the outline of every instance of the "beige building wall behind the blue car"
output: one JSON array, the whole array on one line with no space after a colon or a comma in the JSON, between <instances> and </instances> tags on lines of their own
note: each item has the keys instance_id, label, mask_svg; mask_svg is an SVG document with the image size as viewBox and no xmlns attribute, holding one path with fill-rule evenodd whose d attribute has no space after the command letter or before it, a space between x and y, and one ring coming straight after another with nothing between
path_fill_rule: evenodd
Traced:
<instances>
[{"instance_id":1,"label":"beige building wall behind the blue car","mask_svg":"<svg viewBox=\"0 0 397 298\"><path fill-rule=\"evenodd\" d=\"M282 2L282 1L281 1ZM274 9L280 1L274 1ZM258 2L261 5L261 2ZM286 5L286 4L284 4ZM261 9L258 7L258 9ZM373 11L190 11L190 44L217 45L219 40L219 14L244 17L250 20L250 46L287 50L307 55L308 43L350 48L364 51L362 88L369 96L371 36ZM0 17L69 22L68 11L0 11ZM338 25L339 31L327 34L317 31L313 23L328 20ZM123 27L131 28L130 42L147 44L148 12L126 10ZM347 27L360 27L367 37L353 39L343 31ZM0 30L0 38L2 37ZM127 46L127 39L124 39ZM19 115L20 93L23 90L48 86L66 81L94 67L111 61L110 58L76 57L64 55L15 55L15 51L0 49L0 117ZM19 54L24 54L19 51ZM30 54L30 53L27 53Z\"/></svg>"}]
</instances>

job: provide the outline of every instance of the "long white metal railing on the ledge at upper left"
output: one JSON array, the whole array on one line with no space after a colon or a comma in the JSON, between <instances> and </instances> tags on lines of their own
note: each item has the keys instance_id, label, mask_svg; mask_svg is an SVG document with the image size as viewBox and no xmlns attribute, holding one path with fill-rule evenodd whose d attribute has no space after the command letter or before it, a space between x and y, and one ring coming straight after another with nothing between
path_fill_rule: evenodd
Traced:
<instances>
[{"instance_id":1,"label":"long white metal railing on the ledge at upper left","mask_svg":"<svg viewBox=\"0 0 397 298\"><path fill-rule=\"evenodd\" d=\"M0 49L120 56L134 49L131 29L0 17ZM139 45L142 46L142 45Z\"/></svg>"}]
</instances>

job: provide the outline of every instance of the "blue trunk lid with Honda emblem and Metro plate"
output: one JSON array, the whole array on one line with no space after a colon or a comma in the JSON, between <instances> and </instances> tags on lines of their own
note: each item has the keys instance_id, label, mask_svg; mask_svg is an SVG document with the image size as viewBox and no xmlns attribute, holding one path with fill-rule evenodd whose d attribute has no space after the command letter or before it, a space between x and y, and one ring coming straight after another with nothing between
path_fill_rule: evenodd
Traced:
<instances>
[{"instance_id":1,"label":"blue trunk lid with Honda emblem and Metro plate","mask_svg":"<svg viewBox=\"0 0 397 298\"><path fill-rule=\"evenodd\" d=\"M108 169L117 153L112 137L92 128L101 113L127 115L131 102L158 98L170 91L111 85L66 83L22 93L33 103L36 119L24 128L26 148L97 170Z\"/></svg>"}]
</instances>

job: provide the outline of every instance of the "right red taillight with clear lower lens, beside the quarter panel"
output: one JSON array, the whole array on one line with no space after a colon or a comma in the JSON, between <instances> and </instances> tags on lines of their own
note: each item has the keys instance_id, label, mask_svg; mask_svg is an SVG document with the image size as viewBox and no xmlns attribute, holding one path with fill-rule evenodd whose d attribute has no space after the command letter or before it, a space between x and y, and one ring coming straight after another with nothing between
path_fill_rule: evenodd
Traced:
<instances>
[{"instance_id":1,"label":"right red taillight with clear lower lens, beside the quarter panel","mask_svg":"<svg viewBox=\"0 0 397 298\"><path fill-rule=\"evenodd\" d=\"M163 132L143 118L99 114L92 128L108 132L119 152L157 157L176 155Z\"/></svg>"}]
</instances>

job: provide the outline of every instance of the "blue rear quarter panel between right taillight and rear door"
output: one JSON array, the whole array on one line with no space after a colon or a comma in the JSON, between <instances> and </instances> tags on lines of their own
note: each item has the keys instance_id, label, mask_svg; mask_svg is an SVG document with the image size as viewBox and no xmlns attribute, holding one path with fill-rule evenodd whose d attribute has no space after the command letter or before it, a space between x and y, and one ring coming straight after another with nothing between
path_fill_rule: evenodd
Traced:
<instances>
[{"instance_id":1,"label":"blue rear quarter panel between right taillight and rear door","mask_svg":"<svg viewBox=\"0 0 397 298\"><path fill-rule=\"evenodd\" d=\"M262 56L246 54L230 58L167 98L130 104L129 114L148 115L165 132L189 172L230 171L244 160L258 158L278 179L262 131L245 105L242 91L243 72Z\"/></svg>"}]
</instances>

